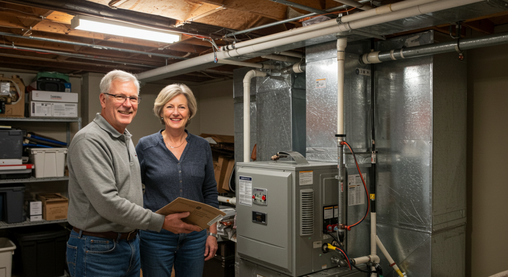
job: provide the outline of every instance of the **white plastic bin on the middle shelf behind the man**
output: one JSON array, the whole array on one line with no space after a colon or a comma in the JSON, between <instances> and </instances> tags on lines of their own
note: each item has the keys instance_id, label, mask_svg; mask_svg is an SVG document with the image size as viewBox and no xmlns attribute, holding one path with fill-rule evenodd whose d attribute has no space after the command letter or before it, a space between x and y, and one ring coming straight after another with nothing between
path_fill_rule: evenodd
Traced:
<instances>
[{"instance_id":1,"label":"white plastic bin on the middle shelf behind the man","mask_svg":"<svg viewBox=\"0 0 508 277\"><path fill-rule=\"evenodd\" d=\"M34 176L63 177L67 148L31 148L30 161L35 165Z\"/></svg>"}]
</instances>

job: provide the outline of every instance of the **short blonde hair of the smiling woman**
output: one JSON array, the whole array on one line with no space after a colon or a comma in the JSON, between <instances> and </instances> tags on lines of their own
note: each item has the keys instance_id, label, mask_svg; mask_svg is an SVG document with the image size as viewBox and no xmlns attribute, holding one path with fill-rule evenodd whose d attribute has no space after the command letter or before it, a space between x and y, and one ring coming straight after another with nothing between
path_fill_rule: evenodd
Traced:
<instances>
[{"instance_id":1,"label":"short blonde hair of the smiling woman","mask_svg":"<svg viewBox=\"0 0 508 277\"><path fill-rule=\"evenodd\" d=\"M159 95L155 99L155 102L153 103L153 113L155 116L158 117L158 119L161 121L161 123L164 125L164 119L162 119L162 110L164 109L164 105L166 103L173 99L173 97L177 96L178 94L183 94L185 98L187 99L187 107L189 109L189 119L193 118L194 115L196 115L196 112L198 111L198 103L196 101L196 98L194 97L194 94L192 93L192 90L190 90L189 87L187 87L184 84L172 84L169 85L161 90L159 92ZM185 127L190 123L189 120L187 120L187 123L185 124Z\"/></svg>"}]
</instances>

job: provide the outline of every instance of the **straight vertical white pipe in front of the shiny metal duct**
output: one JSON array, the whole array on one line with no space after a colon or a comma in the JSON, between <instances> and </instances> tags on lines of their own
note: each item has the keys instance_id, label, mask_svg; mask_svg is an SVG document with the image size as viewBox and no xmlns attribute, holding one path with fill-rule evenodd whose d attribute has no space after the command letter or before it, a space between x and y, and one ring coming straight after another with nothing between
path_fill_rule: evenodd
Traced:
<instances>
[{"instance_id":1,"label":"straight vertical white pipe in front of the shiny metal duct","mask_svg":"<svg viewBox=\"0 0 508 277\"><path fill-rule=\"evenodd\" d=\"M337 134L344 134L344 58L347 38L337 39Z\"/></svg>"}]
</instances>

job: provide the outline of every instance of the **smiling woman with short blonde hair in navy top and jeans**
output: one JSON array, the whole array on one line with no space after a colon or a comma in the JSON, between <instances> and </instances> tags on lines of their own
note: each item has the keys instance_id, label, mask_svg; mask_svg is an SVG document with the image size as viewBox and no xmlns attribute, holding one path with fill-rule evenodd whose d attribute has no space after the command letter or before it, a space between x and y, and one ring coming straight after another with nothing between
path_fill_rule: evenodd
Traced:
<instances>
[{"instance_id":1,"label":"smiling woman with short blonde hair in navy top and jeans","mask_svg":"<svg viewBox=\"0 0 508 277\"><path fill-rule=\"evenodd\" d=\"M177 197L218 207L217 185L208 142L185 127L196 114L197 103L185 85L165 87L155 99L153 112L165 129L141 138L136 146L145 185L144 206L157 211ZM140 233L143 276L202 276L204 261L217 251L217 227L188 234Z\"/></svg>"}]
</instances>

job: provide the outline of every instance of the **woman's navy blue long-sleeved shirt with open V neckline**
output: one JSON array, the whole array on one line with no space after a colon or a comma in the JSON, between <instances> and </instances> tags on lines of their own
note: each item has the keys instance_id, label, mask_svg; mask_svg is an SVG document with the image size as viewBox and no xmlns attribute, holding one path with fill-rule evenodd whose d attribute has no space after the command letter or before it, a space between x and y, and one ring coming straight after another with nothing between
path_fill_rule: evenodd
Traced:
<instances>
[{"instance_id":1,"label":"woman's navy blue long-sleeved shirt with open V neckline","mask_svg":"<svg viewBox=\"0 0 508 277\"><path fill-rule=\"evenodd\" d=\"M145 208L156 212L178 197L218 208L217 183L208 142L185 130L187 145L178 160L166 147L162 131L142 137L136 146L141 182L145 185Z\"/></svg>"}]
</instances>

